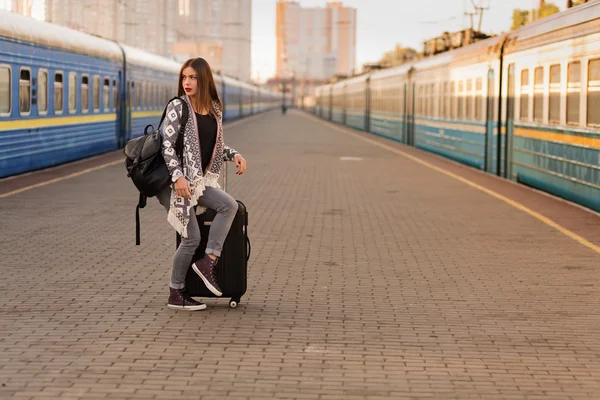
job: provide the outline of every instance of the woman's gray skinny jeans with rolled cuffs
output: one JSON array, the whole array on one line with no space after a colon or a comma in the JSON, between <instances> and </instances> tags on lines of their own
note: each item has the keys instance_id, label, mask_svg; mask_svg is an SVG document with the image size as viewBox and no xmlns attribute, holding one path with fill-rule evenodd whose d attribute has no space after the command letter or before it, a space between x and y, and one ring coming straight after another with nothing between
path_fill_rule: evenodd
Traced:
<instances>
[{"instance_id":1,"label":"woman's gray skinny jeans with rolled cuffs","mask_svg":"<svg viewBox=\"0 0 600 400\"><path fill-rule=\"evenodd\" d=\"M167 186L156 197L160 204L169 212L171 201L171 187ZM231 228L231 223L238 210L238 203L233 197L222 189L207 187L202 196L198 199L198 205L211 210L215 210L217 215L210 225L208 233L208 242L206 244L206 254L221 256L223 243ZM183 289L185 287L185 276L192 263L192 258L200 244L200 228L196 213L192 210L192 218L188 224L188 237L181 238L181 244L173 256L173 269L171 271L170 286L173 289Z\"/></svg>"}]
</instances>

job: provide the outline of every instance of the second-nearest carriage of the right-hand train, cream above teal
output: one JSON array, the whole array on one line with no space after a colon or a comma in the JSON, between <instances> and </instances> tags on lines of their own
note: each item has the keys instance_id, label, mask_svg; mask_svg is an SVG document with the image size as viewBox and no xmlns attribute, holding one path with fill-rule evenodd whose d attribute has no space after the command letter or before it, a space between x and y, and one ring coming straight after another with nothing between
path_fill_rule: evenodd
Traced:
<instances>
[{"instance_id":1,"label":"second-nearest carriage of the right-hand train, cream above teal","mask_svg":"<svg viewBox=\"0 0 600 400\"><path fill-rule=\"evenodd\" d=\"M412 65L408 143L496 173L502 42L490 38Z\"/></svg>"}]
</instances>

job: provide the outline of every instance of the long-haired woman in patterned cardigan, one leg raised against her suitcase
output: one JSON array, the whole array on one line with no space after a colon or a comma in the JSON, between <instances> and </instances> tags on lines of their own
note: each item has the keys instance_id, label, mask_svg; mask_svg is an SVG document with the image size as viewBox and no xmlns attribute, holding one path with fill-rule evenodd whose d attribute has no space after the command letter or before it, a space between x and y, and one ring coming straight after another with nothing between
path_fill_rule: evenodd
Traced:
<instances>
[{"instance_id":1,"label":"long-haired woman in patterned cardigan, one leg raised against her suitcase","mask_svg":"<svg viewBox=\"0 0 600 400\"><path fill-rule=\"evenodd\" d=\"M236 174L243 174L246 160L223 142L223 106L208 63L202 58L187 60L181 67L178 87L181 100L173 100L167 106L162 132L162 153L174 185L173 188L165 188L157 198L168 212L167 220L181 235L181 244L173 257L167 306L195 311L206 308L185 291L187 270L200 244L196 214L201 214L206 208L217 212L210 227L206 254L192 264L192 268L211 292L221 296L215 265L238 204L220 188L219 175L224 161L234 161L238 168ZM183 107L187 107L189 117L183 131L183 159L180 160L175 143L180 132Z\"/></svg>"}]
</instances>

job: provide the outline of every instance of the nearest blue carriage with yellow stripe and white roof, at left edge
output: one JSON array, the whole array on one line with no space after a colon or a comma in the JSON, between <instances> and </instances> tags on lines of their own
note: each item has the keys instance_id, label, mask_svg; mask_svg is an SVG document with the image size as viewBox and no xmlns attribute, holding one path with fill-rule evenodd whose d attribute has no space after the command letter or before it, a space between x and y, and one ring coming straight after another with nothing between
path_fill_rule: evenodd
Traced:
<instances>
[{"instance_id":1,"label":"nearest blue carriage with yellow stripe and white roof, at left edge","mask_svg":"<svg viewBox=\"0 0 600 400\"><path fill-rule=\"evenodd\" d=\"M116 149L123 54L0 11L0 177Z\"/></svg>"}]
</instances>

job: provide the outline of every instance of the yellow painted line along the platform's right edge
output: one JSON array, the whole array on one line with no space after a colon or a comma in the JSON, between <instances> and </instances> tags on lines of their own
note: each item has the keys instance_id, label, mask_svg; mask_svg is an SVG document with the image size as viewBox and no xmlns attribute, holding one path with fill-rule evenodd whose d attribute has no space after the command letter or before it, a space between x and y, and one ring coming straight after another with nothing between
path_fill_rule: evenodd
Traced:
<instances>
[{"instance_id":1,"label":"yellow painted line along the platform's right edge","mask_svg":"<svg viewBox=\"0 0 600 400\"><path fill-rule=\"evenodd\" d=\"M317 117L313 117L313 118L317 119L318 121L322 121L321 119L318 119ZM557 230L557 231L559 231L560 233L562 233L562 234L564 234L564 235L566 235L566 236L570 237L571 239L573 239L573 240L575 240L575 241L579 242L580 244L584 245L585 247L587 247L587 248L589 248L589 249L592 249L592 250L593 250L593 251L595 251L596 253L600 254L600 246L597 246L597 245L595 245L594 243L592 243L592 242L590 242L590 241L586 240L586 239L585 239L585 238L583 238L582 236L579 236L578 234L576 234L576 233L574 233L574 232L571 232L571 231L570 231L570 230L568 230L567 228L565 228L565 227L563 227L563 226L561 226L561 225L557 224L556 222L552 221L550 218L548 218L548 217L545 217L545 216L543 216L542 214L540 214L540 213L538 213L538 212L536 212L536 211L533 211L533 210L531 210L531 209L527 208L526 206L524 206L523 204L521 204L521 203L519 203L519 202L517 202L517 201L511 200L511 199L509 199L508 197L506 197L506 196L503 196L503 195L501 195L500 193L496 193L496 192L494 192L493 190L490 190L490 189L488 189L488 188L485 188L485 187L483 187L483 186L481 186L481 185L478 185L478 184L476 184L475 182L471 182L470 180L468 180L468 179L466 179L466 178L463 178L462 176L459 176L459 175L453 174L452 172L445 171L445 170L443 170L443 169L441 169L441 168L439 168L439 167L436 167L436 166L435 166L435 165L433 165L433 164L430 164L430 163L428 163L428 162L426 162L426 161L423 161L423 160L421 160L421 159L419 159L419 158L417 158L417 157L411 156L410 154L408 154L408 153L405 153L405 152L403 152L403 151L401 151L401 150L398 150L398 149L396 149L396 148L394 148L394 147L392 147L392 146L388 146L388 145L386 145L386 144L379 143L378 141L376 141L376 140L374 140L374 139L371 139L371 138L368 138L368 137L364 137L364 136L362 136L362 135L359 135L358 133L352 132L352 131L351 131L349 128L342 129L342 128L340 128L340 127L338 127L338 126L336 126L336 125L333 125L333 124L331 124L331 123L329 123L329 124L330 124L330 125L331 125L333 128L335 128L336 130L338 130L338 131L340 131L340 132L343 132L343 133L346 133L346 134L350 134L350 135L352 135L352 136L354 136L354 137L356 137L356 138L358 138L358 139L361 139L361 140L363 140L363 141L365 141L365 142L368 142L368 143L374 144L375 146L378 146L378 147L381 147L381 148L383 148L383 149L389 150L389 151L391 151L392 153L396 153L396 154L398 154L398 155L401 155L401 156L403 156L403 157L406 157L406 158L408 158L409 160L412 160L412 161L414 161L414 162L417 162L417 163L419 163L419 164L421 164L421 165L424 165L424 166L426 166L427 168L431 168L431 169L433 169L433 170L435 170L435 171L437 171L437 172L440 172L440 173L442 173L442 174L444 174L444 175L447 175L447 176L449 176L449 177L451 177L451 178L454 178L454 179L456 179L457 181L460 181L460 182L462 182L462 183L465 183L465 184L467 184L467 185L469 185L469 186L471 186L471 187L473 187L473 188L475 188L475 189L477 189L477 190L481 190L482 192L484 192L484 193L487 193L487 194L489 194L490 196L497 198L498 200L502 200L503 202L505 202L505 203L507 203L507 204L509 204L509 205L513 206L514 208L516 208L516 209L518 209L518 210L521 210L521 211L523 211L523 212L524 212L524 213L526 213L526 214L529 214L530 216L532 216L532 217L536 218L537 220L539 220L539 221L543 222L544 224L546 224L546 225L548 225L548 226L550 226L550 227L552 227L552 228L556 229L556 230Z\"/></svg>"}]
</instances>

